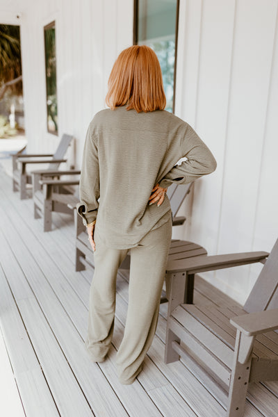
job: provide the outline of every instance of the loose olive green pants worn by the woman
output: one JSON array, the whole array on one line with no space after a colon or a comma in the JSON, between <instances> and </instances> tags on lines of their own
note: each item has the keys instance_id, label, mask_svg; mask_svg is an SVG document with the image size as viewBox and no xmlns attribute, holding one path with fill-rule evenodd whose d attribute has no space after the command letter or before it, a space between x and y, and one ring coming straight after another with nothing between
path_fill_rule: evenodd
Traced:
<instances>
[{"instance_id":1,"label":"loose olive green pants worn by the woman","mask_svg":"<svg viewBox=\"0 0 278 417\"><path fill-rule=\"evenodd\" d=\"M129 306L122 343L116 355L117 373L122 384L132 384L152 344L158 321L159 304L167 256L172 236L172 219L149 231L131 249L106 247L95 231L95 272L90 286L88 336L85 348L94 362L104 361L111 346L117 269L131 252Z\"/></svg>"}]
</instances>

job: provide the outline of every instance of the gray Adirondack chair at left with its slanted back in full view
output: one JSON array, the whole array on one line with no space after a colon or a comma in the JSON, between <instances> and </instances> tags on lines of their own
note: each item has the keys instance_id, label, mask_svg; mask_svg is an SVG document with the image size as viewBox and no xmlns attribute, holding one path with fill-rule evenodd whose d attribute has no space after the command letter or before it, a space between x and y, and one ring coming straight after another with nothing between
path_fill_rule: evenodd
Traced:
<instances>
[{"instance_id":1,"label":"gray Adirondack chair at left with its slanted back in full view","mask_svg":"<svg viewBox=\"0 0 278 417\"><path fill-rule=\"evenodd\" d=\"M67 148L72 142L73 136L63 134L55 154L24 154L13 156L13 191L19 190L20 199L26 199L27 184L32 184L32 176L26 171L28 164L48 163L47 169L58 170L60 163L66 162L64 159Z\"/></svg>"}]
</instances>

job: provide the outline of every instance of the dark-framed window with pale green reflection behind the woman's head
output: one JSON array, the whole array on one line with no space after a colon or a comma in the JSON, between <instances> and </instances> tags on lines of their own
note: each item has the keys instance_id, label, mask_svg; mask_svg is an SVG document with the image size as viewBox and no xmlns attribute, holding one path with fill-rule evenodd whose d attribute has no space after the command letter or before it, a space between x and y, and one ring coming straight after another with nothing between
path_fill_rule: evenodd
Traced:
<instances>
[{"instance_id":1,"label":"dark-framed window with pale green reflection behind the woman's head","mask_svg":"<svg viewBox=\"0 0 278 417\"><path fill-rule=\"evenodd\" d=\"M174 111L179 0L135 0L134 44L152 47L161 64L167 99L166 110Z\"/></svg>"}]
</instances>

